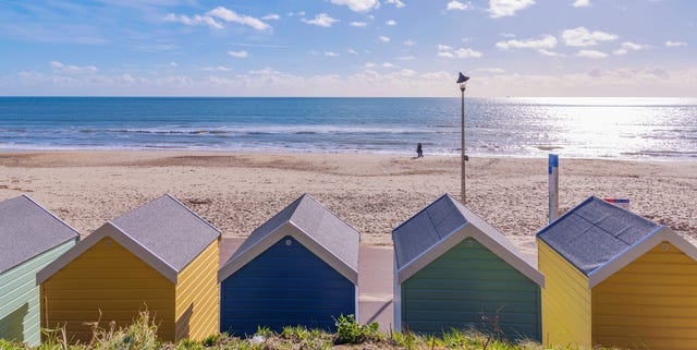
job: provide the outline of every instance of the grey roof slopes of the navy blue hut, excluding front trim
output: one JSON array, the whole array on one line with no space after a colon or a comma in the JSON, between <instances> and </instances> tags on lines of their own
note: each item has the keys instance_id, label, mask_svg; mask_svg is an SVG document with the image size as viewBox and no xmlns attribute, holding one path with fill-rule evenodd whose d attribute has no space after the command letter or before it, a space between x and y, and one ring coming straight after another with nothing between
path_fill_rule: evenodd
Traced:
<instances>
[{"instance_id":1,"label":"grey roof slopes of the navy blue hut, excluding front trim","mask_svg":"<svg viewBox=\"0 0 697 350\"><path fill-rule=\"evenodd\" d=\"M254 230L225 265L272 236L278 228L288 222L301 229L348 267L358 270L360 234L308 194L303 194Z\"/></svg>"}]
</instances>

